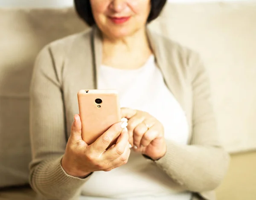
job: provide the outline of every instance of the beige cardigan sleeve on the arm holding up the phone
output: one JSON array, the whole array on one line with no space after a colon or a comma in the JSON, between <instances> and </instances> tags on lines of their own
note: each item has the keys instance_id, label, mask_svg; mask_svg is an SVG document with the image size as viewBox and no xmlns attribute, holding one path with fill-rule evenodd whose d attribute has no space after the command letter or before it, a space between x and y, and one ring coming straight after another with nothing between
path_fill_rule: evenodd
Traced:
<instances>
[{"instance_id":1,"label":"beige cardigan sleeve on the arm holding up the phone","mask_svg":"<svg viewBox=\"0 0 256 200\"><path fill-rule=\"evenodd\" d=\"M36 59L30 88L30 184L47 199L72 199L86 182L61 167L67 144L65 126L61 84L48 46Z\"/></svg>"}]
</instances>

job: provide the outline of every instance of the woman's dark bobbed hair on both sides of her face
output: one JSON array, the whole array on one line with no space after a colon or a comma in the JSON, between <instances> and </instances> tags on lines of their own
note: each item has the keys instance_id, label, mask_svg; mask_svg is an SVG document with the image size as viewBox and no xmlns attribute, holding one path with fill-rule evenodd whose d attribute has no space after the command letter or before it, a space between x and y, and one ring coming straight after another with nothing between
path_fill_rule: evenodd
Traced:
<instances>
[{"instance_id":1,"label":"woman's dark bobbed hair on both sides of her face","mask_svg":"<svg viewBox=\"0 0 256 200\"><path fill-rule=\"evenodd\" d=\"M74 0L76 12L79 17L84 20L89 26L96 24L93 18L93 12L90 5L90 0ZM151 11L148 16L147 22L151 22L156 19L161 13L167 0L150 0L151 1Z\"/></svg>"}]
</instances>

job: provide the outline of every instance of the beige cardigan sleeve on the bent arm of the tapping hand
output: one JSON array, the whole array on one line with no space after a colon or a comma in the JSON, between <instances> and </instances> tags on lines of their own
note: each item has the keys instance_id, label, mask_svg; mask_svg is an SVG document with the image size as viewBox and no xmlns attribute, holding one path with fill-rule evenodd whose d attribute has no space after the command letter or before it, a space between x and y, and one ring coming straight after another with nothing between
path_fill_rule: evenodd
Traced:
<instances>
[{"instance_id":1,"label":"beige cardigan sleeve on the bent arm of the tapping hand","mask_svg":"<svg viewBox=\"0 0 256 200\"><path fill-rule=\"evenodd\" d=\"M219 143L204 65L197 54L191 54L188 61L193 92L192 143L184 146L166 141L166 155L155 162L185 189L210 191L224 178L229 155Z\"/></svg>"}]
</instances>

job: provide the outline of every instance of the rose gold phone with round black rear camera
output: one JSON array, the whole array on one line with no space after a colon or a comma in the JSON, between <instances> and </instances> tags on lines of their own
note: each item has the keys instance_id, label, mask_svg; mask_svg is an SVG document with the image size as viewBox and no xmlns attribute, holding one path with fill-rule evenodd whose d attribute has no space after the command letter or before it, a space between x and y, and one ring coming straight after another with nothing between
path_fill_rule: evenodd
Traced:
<instances>
[{"instance_id":1,"label":"rose gold phone with round black rear camera","mask_svg":"<svg viewBox=\"0 0 256 200\"><path fill-rule=\"evenodd\" d=\"M77 94L82 122L82 138L88 144L121 120L119 98L116 90L80 90ZM112 146L117 138L112 141Z\"/></svg>"}]
</instances>

